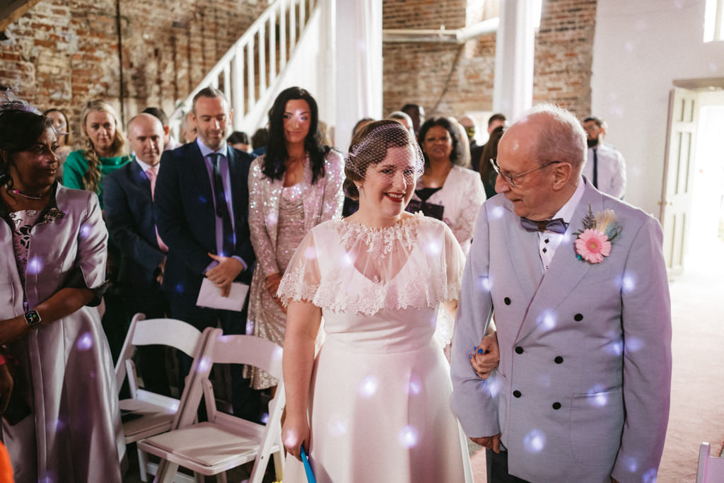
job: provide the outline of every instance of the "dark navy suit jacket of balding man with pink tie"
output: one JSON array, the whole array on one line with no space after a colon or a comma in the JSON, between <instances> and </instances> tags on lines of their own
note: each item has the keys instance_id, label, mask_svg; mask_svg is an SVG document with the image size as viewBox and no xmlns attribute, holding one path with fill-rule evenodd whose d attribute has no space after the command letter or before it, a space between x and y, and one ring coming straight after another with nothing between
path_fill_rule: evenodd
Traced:
<instances>
[{"instance_id":1,"label":"dark navy suit jacket of balding man with pink tie","mask_svg":"<svg viewBox=\"0 0 724 483\"><path fill-rule=\"evenodd\" d=\"M118 283L126 293L145 293L166 256L156 240L151 182L134 160L104 177L103 184L106 225L122 253Z\"/></svg>"}]
</instances>

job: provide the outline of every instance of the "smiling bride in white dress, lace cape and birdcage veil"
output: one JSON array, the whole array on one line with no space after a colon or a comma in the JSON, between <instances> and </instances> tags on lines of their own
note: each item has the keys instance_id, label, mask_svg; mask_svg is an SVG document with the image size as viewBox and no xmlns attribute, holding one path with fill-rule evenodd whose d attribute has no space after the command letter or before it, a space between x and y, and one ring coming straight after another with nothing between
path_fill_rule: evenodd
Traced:
<instances>
[{"instance_id":1,"label":"smiling bride in white dress, lace cape and birdcage veil","mask_svg":"<svg viewBox=\"0 0 724 483\"><path fill-rule=\"evenodd\" d=\"M464 256L447 225L404 211L423 169L403 125L363 127L345 159L359 211L314 227L279 285L285 483L306 481L301 445L318 482L472 481L433 338L439 304L455 306Z\"/></svg>"}]
</instances>

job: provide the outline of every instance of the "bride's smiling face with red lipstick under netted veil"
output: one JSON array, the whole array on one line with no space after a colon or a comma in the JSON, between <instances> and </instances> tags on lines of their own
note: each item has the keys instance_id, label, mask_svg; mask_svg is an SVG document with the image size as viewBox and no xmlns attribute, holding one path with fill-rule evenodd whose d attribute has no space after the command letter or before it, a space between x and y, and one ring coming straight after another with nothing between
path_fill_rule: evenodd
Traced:
<instances>
[{"instance_id":1,"label":"bride's smiling face with red lipstick under netted veil","mask_svg":"<svg viewBox=\"0 0 724 483\"><path fill-rule=\"evenodd\" d=\"M360 209L384 218L399 217L415 190L412 146L387 148L384 159L370 164L360 187Z\"/></svg>"}]
</instances>

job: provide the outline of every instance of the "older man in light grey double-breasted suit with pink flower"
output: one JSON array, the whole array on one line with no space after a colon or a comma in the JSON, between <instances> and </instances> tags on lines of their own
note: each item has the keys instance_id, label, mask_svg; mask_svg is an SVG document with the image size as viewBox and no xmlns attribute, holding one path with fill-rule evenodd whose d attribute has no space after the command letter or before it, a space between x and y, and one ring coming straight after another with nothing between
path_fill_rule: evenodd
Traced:
<instances>
[{"instance_id":1,"label":"older man in light grey double-breasted suit with pink flower","mask_svg":"<svg viewBox=\"0 0 724 483\"><path fill-rule=\"evenodd\" d=\"M479 213L452 345L452 408L492 482L655 481L671 379L661 227L593 188L585 160L576 117L550 105L498 146L501 194ZM481 379L473 364L498 350Z\"/></svg>"}]
</instances>

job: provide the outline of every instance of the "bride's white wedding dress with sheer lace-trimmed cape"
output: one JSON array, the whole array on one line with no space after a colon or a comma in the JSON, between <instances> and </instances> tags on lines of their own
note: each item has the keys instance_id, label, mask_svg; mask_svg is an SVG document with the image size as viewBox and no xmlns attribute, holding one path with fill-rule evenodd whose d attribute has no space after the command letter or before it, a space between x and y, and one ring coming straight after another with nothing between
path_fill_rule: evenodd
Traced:
<instances>
[{"instance_id":1,"label":"bride's white wedding dress with sheer lace-trimmed cape","mask_svg":"<svg viewBox=\"0 0 724 483\"><path fill-rule=\"evenodd\" d=\"M376 230L334 219L300 243L279 294L322 308L309 403L318 482L472 481L433 337L464 262L450 229L421 214ZM284 481L306 482L295 458Z\"/></svg>"}]
</instances>

